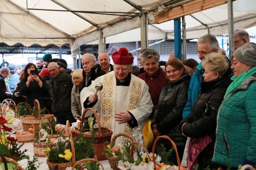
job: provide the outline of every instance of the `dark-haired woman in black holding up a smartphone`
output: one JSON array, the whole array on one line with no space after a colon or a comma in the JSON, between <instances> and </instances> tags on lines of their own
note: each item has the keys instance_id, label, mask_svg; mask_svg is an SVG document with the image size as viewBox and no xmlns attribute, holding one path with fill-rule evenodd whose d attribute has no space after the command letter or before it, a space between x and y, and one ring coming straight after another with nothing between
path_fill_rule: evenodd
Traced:
<instances>
[{"instance_id":1,"label":"dark-haired woman in black holding up a smartphone","mask_svg":"<svg viewBox=\"0 0 256 170\"><path fill-rule=\"evenodd\" d=\"M24 69L24 79L20 82L20 95L26 96L26 103L31 107L34 99L49 97L46 80L38 75L33 63L28 63Z\"/></svg>"}]
</instances>

